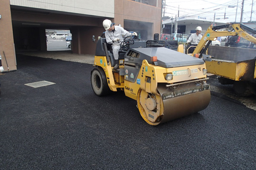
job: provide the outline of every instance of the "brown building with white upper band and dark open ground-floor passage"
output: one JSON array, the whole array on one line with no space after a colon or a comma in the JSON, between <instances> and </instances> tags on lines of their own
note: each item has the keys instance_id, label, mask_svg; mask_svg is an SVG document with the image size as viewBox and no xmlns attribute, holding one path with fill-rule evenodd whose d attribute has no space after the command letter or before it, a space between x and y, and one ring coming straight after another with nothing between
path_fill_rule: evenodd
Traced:
<instances>
[{"instance_id":1,"label":"brown building with white upper band and dark open ground-floor passage","mask_svg":"<svg viewBox=\"0 0 256 170\"><path fill-rule=\"evenodd\" d=\"M92 36L104 30L110 19L142 39L160 33L161 0L1 0L0 54L10 70L16 70L16 51L46 51L46 29L70 30L73 53L94 54ZM3 57L3 67L7 64Z\"/></svg>"}]
</instances>

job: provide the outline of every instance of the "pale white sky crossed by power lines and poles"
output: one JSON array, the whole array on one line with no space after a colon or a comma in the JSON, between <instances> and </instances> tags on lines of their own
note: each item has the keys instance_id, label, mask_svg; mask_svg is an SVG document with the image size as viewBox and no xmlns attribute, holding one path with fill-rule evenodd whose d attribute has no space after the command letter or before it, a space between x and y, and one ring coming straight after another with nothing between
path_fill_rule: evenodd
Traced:
<instances>
[{"instance_id":1,"label":"pale white sky crossed by power lines and poles","mask_svg":"<svg viewBox=\"0 0 256 170\"><path fill-rule=\"evenodd\" d=\"M166 3L163 13L165 16L173 18L178 16L178 11L179 17L202 16L214 18L215 14L215 19L224 19L225 17L227 22L235 22L235 20L240 22L242 1L238 0L237 8L237 0L163 0ZM253 13L251 20L256 21L256 0L244 0L242 22L250 21L252 2ZM229 5L235 6L235 8L228 8Z\"/></svg>"}]
</instances>

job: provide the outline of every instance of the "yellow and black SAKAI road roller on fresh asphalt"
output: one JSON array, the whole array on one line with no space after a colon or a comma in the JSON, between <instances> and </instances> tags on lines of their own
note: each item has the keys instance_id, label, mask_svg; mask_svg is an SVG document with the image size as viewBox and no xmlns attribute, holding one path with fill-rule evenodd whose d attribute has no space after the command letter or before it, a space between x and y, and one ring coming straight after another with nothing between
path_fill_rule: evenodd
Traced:
<instances>
[{"instance_id":1,"label":"yellow and black SAKAI road roller on fresh asphalt","mask_svg":"<svg viewBox=\"0 0 256 170\"><path fill-rule=\"evenodd\" d=\"M119 68L111 46L98 39L91 71L97 96L122 90L137 100L142 118L158 125L204 110L210 102L206 65L202 59L165 47L164 41L124 38L120 43Z\"/></svg>"}]
</instances>

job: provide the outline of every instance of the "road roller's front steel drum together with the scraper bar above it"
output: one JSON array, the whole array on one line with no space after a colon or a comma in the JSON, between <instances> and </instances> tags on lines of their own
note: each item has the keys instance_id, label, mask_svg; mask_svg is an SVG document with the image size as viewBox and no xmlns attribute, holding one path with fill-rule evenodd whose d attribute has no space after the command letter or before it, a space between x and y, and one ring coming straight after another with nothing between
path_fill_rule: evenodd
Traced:
<instances>
[{"instance_id":1,"label":"road roller's front steel drum together with the scraper bar above it","mask_svg":"<svg viewBox=\"0 0 256 170\"><path fill-rule=\"evenodd\" d=\"M210 102L209 85L205 81L166 87L158 85L158 94L140 89L137 104L140 115L149 125L158 125L197 113Z\"/></svg>"}]
</instances>

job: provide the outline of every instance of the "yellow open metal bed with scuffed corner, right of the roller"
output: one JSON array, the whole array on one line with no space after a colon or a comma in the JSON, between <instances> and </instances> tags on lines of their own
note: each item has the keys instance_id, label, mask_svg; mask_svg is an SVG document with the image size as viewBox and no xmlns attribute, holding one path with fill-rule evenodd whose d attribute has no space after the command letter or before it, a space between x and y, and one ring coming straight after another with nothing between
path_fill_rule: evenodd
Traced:
<instances>
[{"instance_id":1,"label":"yellow open metal bed with scuffed corner, right of the roller","mask_svg":"<svg viewBox=\"0 0 256 170\"><path fill-rule=\"evenodd\" d=\"M256 79L256 49L209 46L208 54L214 56L206 61L209 73L235 81Z\"/></svg>"}]
</instances>

